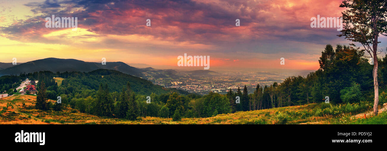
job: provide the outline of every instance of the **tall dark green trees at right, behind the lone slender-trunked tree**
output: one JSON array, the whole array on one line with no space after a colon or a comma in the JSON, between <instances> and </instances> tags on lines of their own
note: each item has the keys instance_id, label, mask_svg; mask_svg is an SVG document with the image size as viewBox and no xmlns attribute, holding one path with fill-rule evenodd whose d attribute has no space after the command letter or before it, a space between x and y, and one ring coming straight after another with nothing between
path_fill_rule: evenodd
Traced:
<instances>
[{"instance_id":1,"label":"tall dark green trees at right, behind the lone slender-trunked tree","mask_svg":"<svg viewBox=\"0 0 387 151\"><path fill-rule=\"evenodd\" d=\"M257 86L252 94L242 94L244 102L236 105L236 110L267 109L324 102L329 97L330 103L354 103L373 101L373 65L362 57L364 51L346 45L326 45L319 59L320 69L311 72L306 77L292 76L282 83ZM386 102L387 54L378 60L380 103ZM237 96L241 92L236 92ZM233 96L235 94L227 94ZM229 97L231 98L231 97ZM254 105L252 105L254 104ZM240 107L238 107L240 106ZM248 107L247 107L248 106ZM252 106L252 107L250 107Z\"/></svg>"}]
</instances>

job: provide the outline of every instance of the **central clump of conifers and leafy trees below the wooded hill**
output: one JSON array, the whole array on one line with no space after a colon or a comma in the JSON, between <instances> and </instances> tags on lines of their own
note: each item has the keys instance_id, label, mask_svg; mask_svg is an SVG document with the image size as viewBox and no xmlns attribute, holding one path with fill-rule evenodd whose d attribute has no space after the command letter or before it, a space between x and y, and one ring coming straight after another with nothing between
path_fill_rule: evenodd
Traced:
<instances>
[{"instance_id":1,"label":"central clump of conifers and leafy trees below the wooded hill","mask_svg":"<svg viewBox=\"0 0 387 151\"><path fill-rule=\"evenodd\" d=\"M109 92L107 84L101 84L95 96L74 98L68 104L81 112L105 117L135 120L137 117L210 117L230 113L231 105L225 95L210 92L205 96L182 95L176 92L150 96L136 94L130 84L120 92Z\"/></svg>"}]
</instances>

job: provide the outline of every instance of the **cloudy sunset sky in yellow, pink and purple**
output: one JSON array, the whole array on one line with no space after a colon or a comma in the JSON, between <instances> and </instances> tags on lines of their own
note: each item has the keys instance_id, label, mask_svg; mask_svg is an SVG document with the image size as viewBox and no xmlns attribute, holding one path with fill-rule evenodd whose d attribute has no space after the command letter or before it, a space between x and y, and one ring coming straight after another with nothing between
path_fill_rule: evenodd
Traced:
<instances>
[{"instance_id":1,"label":"cloudy sunset sky in yellow, pink and purple","mask_svg":"<svg viewBox=\"0 0 387 151\"><path fill-rule=\"evenodd\" d=\"M0 62L106 58L177 67L187 53L210 56L210 70L316 70L325 45L351 43L337 28L310 26L317 15L340 17L341 1L0 0ZM46 28L51 15L77 17L77 30Z\"/></svg>"}]
</instances>

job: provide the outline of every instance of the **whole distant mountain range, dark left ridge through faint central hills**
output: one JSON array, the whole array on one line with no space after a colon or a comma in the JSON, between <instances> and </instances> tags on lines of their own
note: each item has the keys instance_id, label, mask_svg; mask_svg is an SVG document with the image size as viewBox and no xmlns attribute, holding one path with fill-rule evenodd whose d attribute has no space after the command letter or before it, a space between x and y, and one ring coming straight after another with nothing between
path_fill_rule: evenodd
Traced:
<instances>
[{"instance_id":1,"label":"whole distant mountain range, dark left ridge through faint central hills","mask_svg":"<svg viewBox=\"0 0 387 151\"><path fill-rule=\"evenodd\" d=\"M136 68L132 67L124 62L106 62L103 65L101 62L85 62L76 59L58 59L58 58L46 58L33 60L25 63L2 63L0 62L0 76L2 75L19 75L20 73L33 73L39 71L51 71L51 72L90 72L97 69L109 69L117 70L125 74L134 75L137 77L146 77L144 73L152 74L154 77L176 77L178 71L174 69L154 69L152 67ZM216 73L210 70L194 70L185 71L188 74L209 74Z\"/></svg>"}]
</instances>

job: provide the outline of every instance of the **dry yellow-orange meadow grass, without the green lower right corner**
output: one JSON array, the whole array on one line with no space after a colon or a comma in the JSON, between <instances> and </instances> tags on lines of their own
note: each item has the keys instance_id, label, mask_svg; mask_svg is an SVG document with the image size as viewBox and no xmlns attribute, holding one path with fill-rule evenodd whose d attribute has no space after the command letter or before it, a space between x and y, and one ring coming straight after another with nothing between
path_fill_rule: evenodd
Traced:
<instances>
[{"instance_id":1,"label":"dry yellow-orange meadow grass, without the green lower right corner","mask_svg":"<svg viewBox=\"0 0 387 151\"><path fill-rule=\"evenodd\" d=\"M49 100L56 102L55 100ZM63 111L41 111L34 109L36 96L16 95L0 99L0 110L6 107L0 117L0 124L330 124L332 115L314 116L313 109L320 104L278 107L256 111L219 114L206 118L140 117L137 121L104 118L87 113L71 113L66 106ZM8 104L8 106L7 106Z\"/></svg>"}]
</instances>

